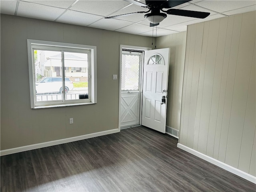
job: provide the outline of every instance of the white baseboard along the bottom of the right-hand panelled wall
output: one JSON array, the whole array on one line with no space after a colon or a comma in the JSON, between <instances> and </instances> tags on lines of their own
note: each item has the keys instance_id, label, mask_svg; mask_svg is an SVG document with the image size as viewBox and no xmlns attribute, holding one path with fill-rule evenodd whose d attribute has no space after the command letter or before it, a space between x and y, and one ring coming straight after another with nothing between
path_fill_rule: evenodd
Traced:
<instances>
[{"instance_id":1,"label":"white baseboard along the bottom of the right-hand panelled wall","mask_svg":"<svg viewBox=\"0 0 256 192\"><path fill-rule=\"evenodd\" d=\"M239 170L237 168L234 168L234 167L232 167L232 166L230 166L228 164L220 162L219 160L216 160L216 159L214 159L212 157L209 157L209 156L207 156L205 154L202 154L202 153L200 153L200 152L198 152L198 151L196 151L194 149L191 149L191 148L189 148L187 146L184 146L184 145L182 145L180 143L177 144L177 147L182 149L182 150L184 150L184 151L186 151L186 152L189 152L189 153L191 153L191 154L193 154L193 155L195 155L195 156L197 156L197 157L199 157L199 158L201 158L203 160L206 160L206 161L208 161L208 162L210 162L210 163L212 163L212 164L214 164L214 165L216 165L216 166L218 166L218 167L220 167L220 168L222 168L224 170L227 170L227 171L229 171L229 172L231 172L231 173L233 173L233 174L235 174L237 176L240 176L240 177L242 177L242 178L244 178L244 179L246 179L246 180L256 184L256 177L254 177L254 176L252 176L252 175L250 175L250 174L248 174L246 172L243 172L243 171L241 171L241 170Z\"/></svg>"}]
</instances>

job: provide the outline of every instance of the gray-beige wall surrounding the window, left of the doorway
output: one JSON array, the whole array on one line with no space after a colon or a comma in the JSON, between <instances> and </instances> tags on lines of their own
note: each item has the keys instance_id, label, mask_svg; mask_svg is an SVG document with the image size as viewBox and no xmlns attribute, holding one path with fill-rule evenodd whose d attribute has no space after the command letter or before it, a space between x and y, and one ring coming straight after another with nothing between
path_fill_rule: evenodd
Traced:
<instances>
[{"instance_id":1,"label":"gray-beige wall surrounding the window, left of the doorway","mask_svg":"<svg viewBox=\"0 0 256 192\"><path fill-rule=\"evenodd\" d=\"M30 109L27 39L97 46L98 103ZM120 44L152 38L1 14L1 150L118 128ZM69 118L74 124L69 124Z\"/></svg>"}]
</instances>

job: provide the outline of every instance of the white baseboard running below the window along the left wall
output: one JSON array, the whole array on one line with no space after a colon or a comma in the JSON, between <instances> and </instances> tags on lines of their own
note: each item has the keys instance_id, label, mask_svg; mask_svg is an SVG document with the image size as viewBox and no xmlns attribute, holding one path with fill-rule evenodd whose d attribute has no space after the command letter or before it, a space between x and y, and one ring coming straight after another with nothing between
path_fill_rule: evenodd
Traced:
<instances>
[{"instance_id":1,"label":"white baseboard running below the window along the left wall","mask_svg":"<svg viewBox=\"0 0 256 192\"><path fill-rule=\"evenodd\" d=\"M108 134L117 133L117 132L120 132L120 130L112 129L112 130L101 131L101 132L96 132L96 133L91 133L91 134L86 134L86 135L81 135L81 136L76 136L76 137L70 137L70 138L65 138L65 139L59 139L59 140L54 140L54 141L48 141L48 142L43 142L43 143L37 143L37 144L32 144L32 145L26 145L26 146L1 150L0 156L23 152L23 151L28 151L28 150L33 150L33 149L39 149L39 148L48 147L48 146L69 143L69 142L73 142L73 141L79 141L79 140L83 140L83 139L89 139L89 138L108 135Z\"/></svg>"}]
</instances>

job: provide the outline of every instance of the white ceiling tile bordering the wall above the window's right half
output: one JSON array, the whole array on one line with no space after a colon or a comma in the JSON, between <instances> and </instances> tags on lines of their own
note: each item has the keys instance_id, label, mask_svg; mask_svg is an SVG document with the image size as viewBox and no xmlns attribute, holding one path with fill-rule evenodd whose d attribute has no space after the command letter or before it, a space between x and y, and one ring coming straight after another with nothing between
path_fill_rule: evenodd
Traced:
<instances>
[{"instance_id":1,"label":"white ceiling tile bordering the wall above the window's right half","mask_svg":"<svg viewBox=\"0 0 256 192\"><path fill-rule=\"evenodd\" d=\"M98 15L68 10L60 18L58 18L57 22L87 26L101 18L103 17Z\"/></svg>"}]
</instances>

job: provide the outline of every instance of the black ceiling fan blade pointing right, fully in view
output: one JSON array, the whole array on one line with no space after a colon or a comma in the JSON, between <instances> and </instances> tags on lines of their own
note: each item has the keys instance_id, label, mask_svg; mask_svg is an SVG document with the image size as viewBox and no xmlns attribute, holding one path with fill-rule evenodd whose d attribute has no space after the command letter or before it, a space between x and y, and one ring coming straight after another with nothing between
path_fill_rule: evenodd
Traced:
<instances>
[{"instance_id":1,"label":"black ceiling fan blade pointing right, fully in view","mask_svg":"<svg viewBox=\"0 0 256 192\"><path fill-rule=\"evenodd\" d=\"M200 12L200 11L190 11L190 10L181 10L181 9L169 9L166 12L169 15L179 15L186 17L194 17L204 19L210 15L208 12Z\"/></svg>"}]
</instances>

